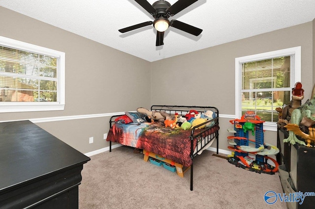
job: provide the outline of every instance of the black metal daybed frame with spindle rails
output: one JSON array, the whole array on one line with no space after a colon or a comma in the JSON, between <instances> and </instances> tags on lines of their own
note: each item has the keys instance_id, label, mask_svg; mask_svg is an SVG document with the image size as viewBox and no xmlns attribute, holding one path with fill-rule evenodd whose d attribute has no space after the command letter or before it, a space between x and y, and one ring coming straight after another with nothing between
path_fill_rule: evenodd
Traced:
<instances>
[{"instance_id":1,"label":"black metal daybed frame with spindle rails","mask_svg":"<svg viewBox=\"0 0 315 209\"><path fill-rule=\"evenodd\" d=\"M185 115L187 112L189 112L190 109L196 110L198 112L204 112L207 110L212 110L216 113L217 117L208 120L202 124L199 124L198 126L195 126L191 129L190 133L190 158L192 160L192 163L190 165L190 191L193 190L193 157L195 157L199 151L201 151L207 144L209 144L212 140L217 139L217 155L219 155L219 130L215 132L211 132L211 129L214 126L219 125L219 109L214 106L179 106L179 105L152 105L151 111L165 111L166 113L173 115L175 113L178 113L179 115ZM110 128L112 127L112 124L115 123L114 119L121 115L113 115L109 119ZM206 125L208 123L211 123L212 121L215 121L215 124L206 127L205 129L202 129L201 132L195 134L195 130L203 125ZM198 148L198 145L196 146L196 152L194 152L193 149L193 141L196 140L197 142L200 141L201 146ZM198 144L198 143L197 143ZM109 141L109 152L112 151L112 142ZM158 154L158 153L156 153Z\"/></svg>"}]
</instances>

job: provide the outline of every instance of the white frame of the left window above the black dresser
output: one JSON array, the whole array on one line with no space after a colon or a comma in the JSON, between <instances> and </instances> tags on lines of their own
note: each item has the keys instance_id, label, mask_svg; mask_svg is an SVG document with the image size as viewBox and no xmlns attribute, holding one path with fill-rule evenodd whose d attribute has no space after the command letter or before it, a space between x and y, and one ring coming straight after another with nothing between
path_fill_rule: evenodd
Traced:
<instances>
[{"instance_id":1,"label":"white frame of the left window above the black dresser","mask_svg":"<svg viewBox=\"0 0 315 209\"><path fill-rule=\"evenodd\" d=\"M0 36L2 46L57 57L60 63L58 102L0 102L0 112L63 110L65 105L65 53Z\"/></svg>"}]
</instances>

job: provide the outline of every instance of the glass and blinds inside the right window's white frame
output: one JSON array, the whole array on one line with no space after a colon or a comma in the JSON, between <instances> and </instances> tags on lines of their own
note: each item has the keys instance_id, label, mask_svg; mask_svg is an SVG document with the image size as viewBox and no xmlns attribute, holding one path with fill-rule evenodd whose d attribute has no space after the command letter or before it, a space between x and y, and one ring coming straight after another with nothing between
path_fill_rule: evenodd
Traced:
<instances>
[{"instance_id":1,"label":"glass and blinds inside the right window's white frame","mask_svg":"<svg viewBox=\"0 0 315 209\"><path fill-rule=\"evenodd\" d=\"M290 101L290 91L287 90L292 84L293 57L282 56L241 64L242 114L252 110L264 121L278 122L275 108L283 107Z\"/></svg>"}]
</instances>

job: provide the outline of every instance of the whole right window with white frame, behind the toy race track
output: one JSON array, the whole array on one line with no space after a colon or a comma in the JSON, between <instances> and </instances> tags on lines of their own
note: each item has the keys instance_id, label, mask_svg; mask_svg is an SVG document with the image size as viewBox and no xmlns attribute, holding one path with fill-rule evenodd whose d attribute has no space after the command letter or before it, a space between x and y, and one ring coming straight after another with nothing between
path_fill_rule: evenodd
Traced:
<instances>
[{"instance_id":1,"label":"whole right window with white frame, behind the toy race track","mask_svg":"<svg viewBox=\"0 0 315 209\"><path fill-rule=\"evenodd\" d=\"M235 116L254 111L266 121L265 130L276 131L278 112L291 100L301 78L301 47L235 59Z\"/></svg>"}]
</instances>

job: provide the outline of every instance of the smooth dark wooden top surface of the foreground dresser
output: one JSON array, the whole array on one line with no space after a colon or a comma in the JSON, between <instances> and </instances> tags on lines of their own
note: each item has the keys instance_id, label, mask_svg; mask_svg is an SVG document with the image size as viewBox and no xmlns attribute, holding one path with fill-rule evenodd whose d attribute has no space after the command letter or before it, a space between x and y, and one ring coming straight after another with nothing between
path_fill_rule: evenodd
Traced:
<instances>
[{"instance_id":1,"label":"smooth dark wooden top surface of the foreground dresser","mask_svg":"<svg viewBox=\"0 0 315 209\"><path fill-rule=\"evenodd\" d=\"M89 160L31 121L0 123L0 193Z\"/></svg>"}]
</instances>

